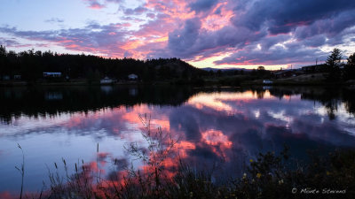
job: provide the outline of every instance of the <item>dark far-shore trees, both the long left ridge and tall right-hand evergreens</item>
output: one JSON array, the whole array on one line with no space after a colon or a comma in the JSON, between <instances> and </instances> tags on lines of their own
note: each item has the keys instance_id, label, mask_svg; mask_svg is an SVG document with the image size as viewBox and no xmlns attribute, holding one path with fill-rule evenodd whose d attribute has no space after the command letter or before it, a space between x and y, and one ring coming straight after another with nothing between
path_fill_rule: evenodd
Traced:
<instances>
[{"instance_id":1,"label":"dark far-shore trees, both the long left ridge and tall right-hand evergreens","mask_svg":"<svg viewBox=\"0 0 355 199\"><path fill-rule=\"evenodd\" d=\"M126 57L106 58L84 54L58 54L51 50L44 52L25 50L16 53L13 50L7 51L4 46L0 46L0 80L4 80L4 76L14 79L15 75L20 75L21 80L36 82L43 79L43 72L62 73L62 80L66 78L84 79L89 82L100 80L106 76L117 80L126 80L130 73L137 74L139 80L145 82L170 80L178 84L199 84L203 83L203 78L206 77L233 78L235 75L243 75L248 77L248 80L275 78L274 73L265 70L264 66L259 66L251 71L236 69L214 72L213 70L204 71L195 68L176 57L143 61ZM317 73L327 73L327 82L354 80L355 53L348 57L347 63L344 64L342 51L334 49L327 57L325 65L319 68Z\"/></svg>"}]
</instances>

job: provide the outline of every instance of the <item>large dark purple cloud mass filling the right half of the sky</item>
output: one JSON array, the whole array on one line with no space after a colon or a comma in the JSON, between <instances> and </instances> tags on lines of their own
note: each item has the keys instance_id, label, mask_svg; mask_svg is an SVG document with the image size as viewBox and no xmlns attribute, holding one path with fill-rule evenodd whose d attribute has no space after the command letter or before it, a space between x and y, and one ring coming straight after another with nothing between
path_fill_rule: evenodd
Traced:
<instances>
[{"instance_id":1,"label":"large dark purple cloud mass filling the right half of the sky","mask_svg":"<svg viewBox=\"0 0 355 199\"><path fill-rule=\"evenodd\" d=\"M216 4L196 1L188 6L194 11L209 11ZM227 4L231 5L233 25L206 30L202 28L203 19L187 19L184 27L170 32L167 48L154 50L149 57L201 59L233 48L235 53L215 64L305 64L327 56L319 47L346 43L354 34L350 27L355 25L355 2L270 0ZM222 7L215 12L223 14ZM280 43L284 43L282 48ZM261 50L256 50L257 45Z\"/></svg>"}]
</instances>

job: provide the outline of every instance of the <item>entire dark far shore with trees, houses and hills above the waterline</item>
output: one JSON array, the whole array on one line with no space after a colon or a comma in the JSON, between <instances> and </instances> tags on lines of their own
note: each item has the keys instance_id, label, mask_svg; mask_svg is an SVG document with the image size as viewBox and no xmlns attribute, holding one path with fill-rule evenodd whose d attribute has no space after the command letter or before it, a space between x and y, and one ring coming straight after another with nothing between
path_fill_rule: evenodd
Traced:
<instances>
[{"instance_id":1,"label":"entire dark far shore with trees, houses and hills above the waterline","mask_svg":"<svg viewBox=\"0 0 355 199\"><path fill-rule=\"evenodd\" d=\"M334 49L322 65L268 71L257 69L200 69L173 58L104 58L27 50L16 53L0 46L0 86L102 85L355 85L355 53L343 63L341 50ZM107 83L108 82L108 83Z\"/></svg>"}]
</instances>

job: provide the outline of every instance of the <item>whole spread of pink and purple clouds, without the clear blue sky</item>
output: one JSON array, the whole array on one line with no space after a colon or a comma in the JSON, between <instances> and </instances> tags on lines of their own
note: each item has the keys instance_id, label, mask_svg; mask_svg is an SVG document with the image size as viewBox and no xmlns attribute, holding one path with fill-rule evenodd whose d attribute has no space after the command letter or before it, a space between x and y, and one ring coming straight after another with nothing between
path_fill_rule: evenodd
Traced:
<instances>
[{"instance_id":1,"label":"whole spread of pink and purple clouds, without the clear blue sky","mask_svg":"<svg viewBox=\"0 0 355 199\"><path fill-rule=\"evenodd\" d=\"M309 64L315 58L327 57L322 47L349 47L355 41L355 1L349 0L149 0L135 8L128 8L124 4L128 1L122 0L83 2L92 9L118 5L124 13L119 19L138 25L138 29L129 27L129 23L127 28L120 23L91 23L48 31L20 31L15 27L0 27L0 31L108 57L201 61L229 55L217 60L216 65Z\"/></svg>"}]
</instances>

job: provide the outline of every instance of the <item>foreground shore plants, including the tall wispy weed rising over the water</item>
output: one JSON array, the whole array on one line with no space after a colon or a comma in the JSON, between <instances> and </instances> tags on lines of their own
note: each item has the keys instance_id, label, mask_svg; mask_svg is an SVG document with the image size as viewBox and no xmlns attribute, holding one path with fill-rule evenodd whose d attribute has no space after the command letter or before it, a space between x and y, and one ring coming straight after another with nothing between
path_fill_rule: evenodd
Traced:
<instances>
[{"instance_id":1,"label":"foreground shore plants, including the tall wispy weed rising over the water","mask_svg":"<svg viewBox=\"0 0 355 199\"><path fill-rule=\"evenodd\" d=\"M300 162L289 155L289 147L285 145L280 153L270 151L255 158L246 157L241 175L232 177L235 173L227 173L231 177L220 180L215 170L196 170L178 157L175 150L178 139L163 133L159 127L151 130L150 117L144 115L139 119L145 128L142 135L147 150L134 142L125 149L143 166L134 168L133 164L122 165L114 159L114 171L104 177L99 167L98 143L96 165L82 161L70 172L73 165L67 165L62 159L62 164L54 163L55 172L49 169L50 184L41 193L20 194L20 198L346 199L355 196L354 149L336 149L326 155L311 151L309 160ZM64 175L59 174L60 166L64 166ZM26 168L22 166L21 171L23 176ZM23 186L22 183L21 190Z\"/></svg>"}]
</instances>

